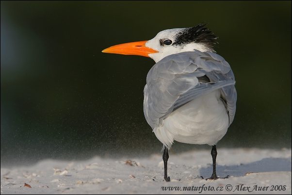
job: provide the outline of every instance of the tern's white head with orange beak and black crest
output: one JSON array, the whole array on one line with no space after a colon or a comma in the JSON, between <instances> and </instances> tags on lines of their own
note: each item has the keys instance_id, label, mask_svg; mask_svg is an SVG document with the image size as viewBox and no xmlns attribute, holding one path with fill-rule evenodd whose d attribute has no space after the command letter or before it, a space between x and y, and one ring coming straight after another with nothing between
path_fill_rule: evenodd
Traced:
<instances>
[{"instance_id":1,"label":"tern's white head with orange beak and black crest","mask_svg":"<svg viewBox=\"0 0 292 195\"><path fill-rule=\"evenodd\" d=\"M102 50L104 53L117 53L124 55L141 55L159 62L162 58L184 51L211 51L218 37L199 24L191 28L168 29L158 33L149 41L139 41L115 45Z\"/></svg>"}]
</instances>

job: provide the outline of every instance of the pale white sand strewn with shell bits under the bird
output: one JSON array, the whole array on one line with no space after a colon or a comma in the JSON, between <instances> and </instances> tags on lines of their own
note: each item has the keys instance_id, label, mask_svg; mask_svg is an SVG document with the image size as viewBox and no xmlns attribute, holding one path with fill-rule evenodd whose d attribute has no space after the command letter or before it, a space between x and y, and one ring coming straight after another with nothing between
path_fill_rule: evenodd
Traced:
<instances>
[{"instance_id":1,"label":"pale white sand strewn with shell bits under the bird","mask_svg":"<svg viewBox=\"0 0 292 195\"><path fill-rule=\"evenodd\" d=\"M231 177L217 180L198 177L211 176L209 150L190 151L179 155L170 153L168 176L171 182L163 181L162 153L149 158L130 159L132 166L130 163L125 163L127 160L129 159L96 157L75 162L44 160L30 167L1 167L1 194L291 194L292 192L291 149L218 148L217 175ZM245 174L248 172L257 173ZM24 183L31 188L25 187ZM183 189L186 187L187 190L192 190L200 186L203 188L198 188L197 191ZM255 186L264 187L264 191L254 190ZM162 187L180 187L180 189L163 191ZM271 191L273 188L274 190Z\"/></svg>"}]
</instances>

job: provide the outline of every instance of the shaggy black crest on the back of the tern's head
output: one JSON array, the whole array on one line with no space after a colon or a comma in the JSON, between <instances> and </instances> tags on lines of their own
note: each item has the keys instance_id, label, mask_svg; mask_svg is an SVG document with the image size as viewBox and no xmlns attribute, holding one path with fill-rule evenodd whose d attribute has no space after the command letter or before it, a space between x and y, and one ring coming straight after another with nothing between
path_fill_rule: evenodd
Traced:
<instances>
[{"instance_id":1,"label":"shaggy black crest on the back of the tern's head","mask_svg":"<svg viewBox=\"0 0 292 195\"><path fill-rule=\"evenodd\" d=\"M187 44L191 42L201 43L214 52L216 45L215 39L218 37L208 29L204 28L206 24L198 24L195 27L186 28L176 34L176 40L173 45Z\"/></svg>"}]
</instances>

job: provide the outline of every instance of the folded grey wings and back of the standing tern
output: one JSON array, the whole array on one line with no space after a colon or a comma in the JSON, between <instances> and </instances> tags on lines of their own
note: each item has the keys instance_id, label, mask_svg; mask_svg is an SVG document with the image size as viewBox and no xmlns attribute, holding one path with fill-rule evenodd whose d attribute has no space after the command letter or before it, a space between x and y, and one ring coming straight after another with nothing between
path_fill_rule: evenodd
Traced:
<instances>
[{"instance_id":1,"label":"folded grey wings and back of the standing tern","mask_svg":"<svg viewBox=\"0 0 292 195\"><path fill-rule=\"evenodd\" d=\"M166 56L148 72L144 88L144 114L154 129L174 110L203 94L221 89L229 125L236 110L234 74L223 57L198 50Z\"/></svg>"}]
</instances>

